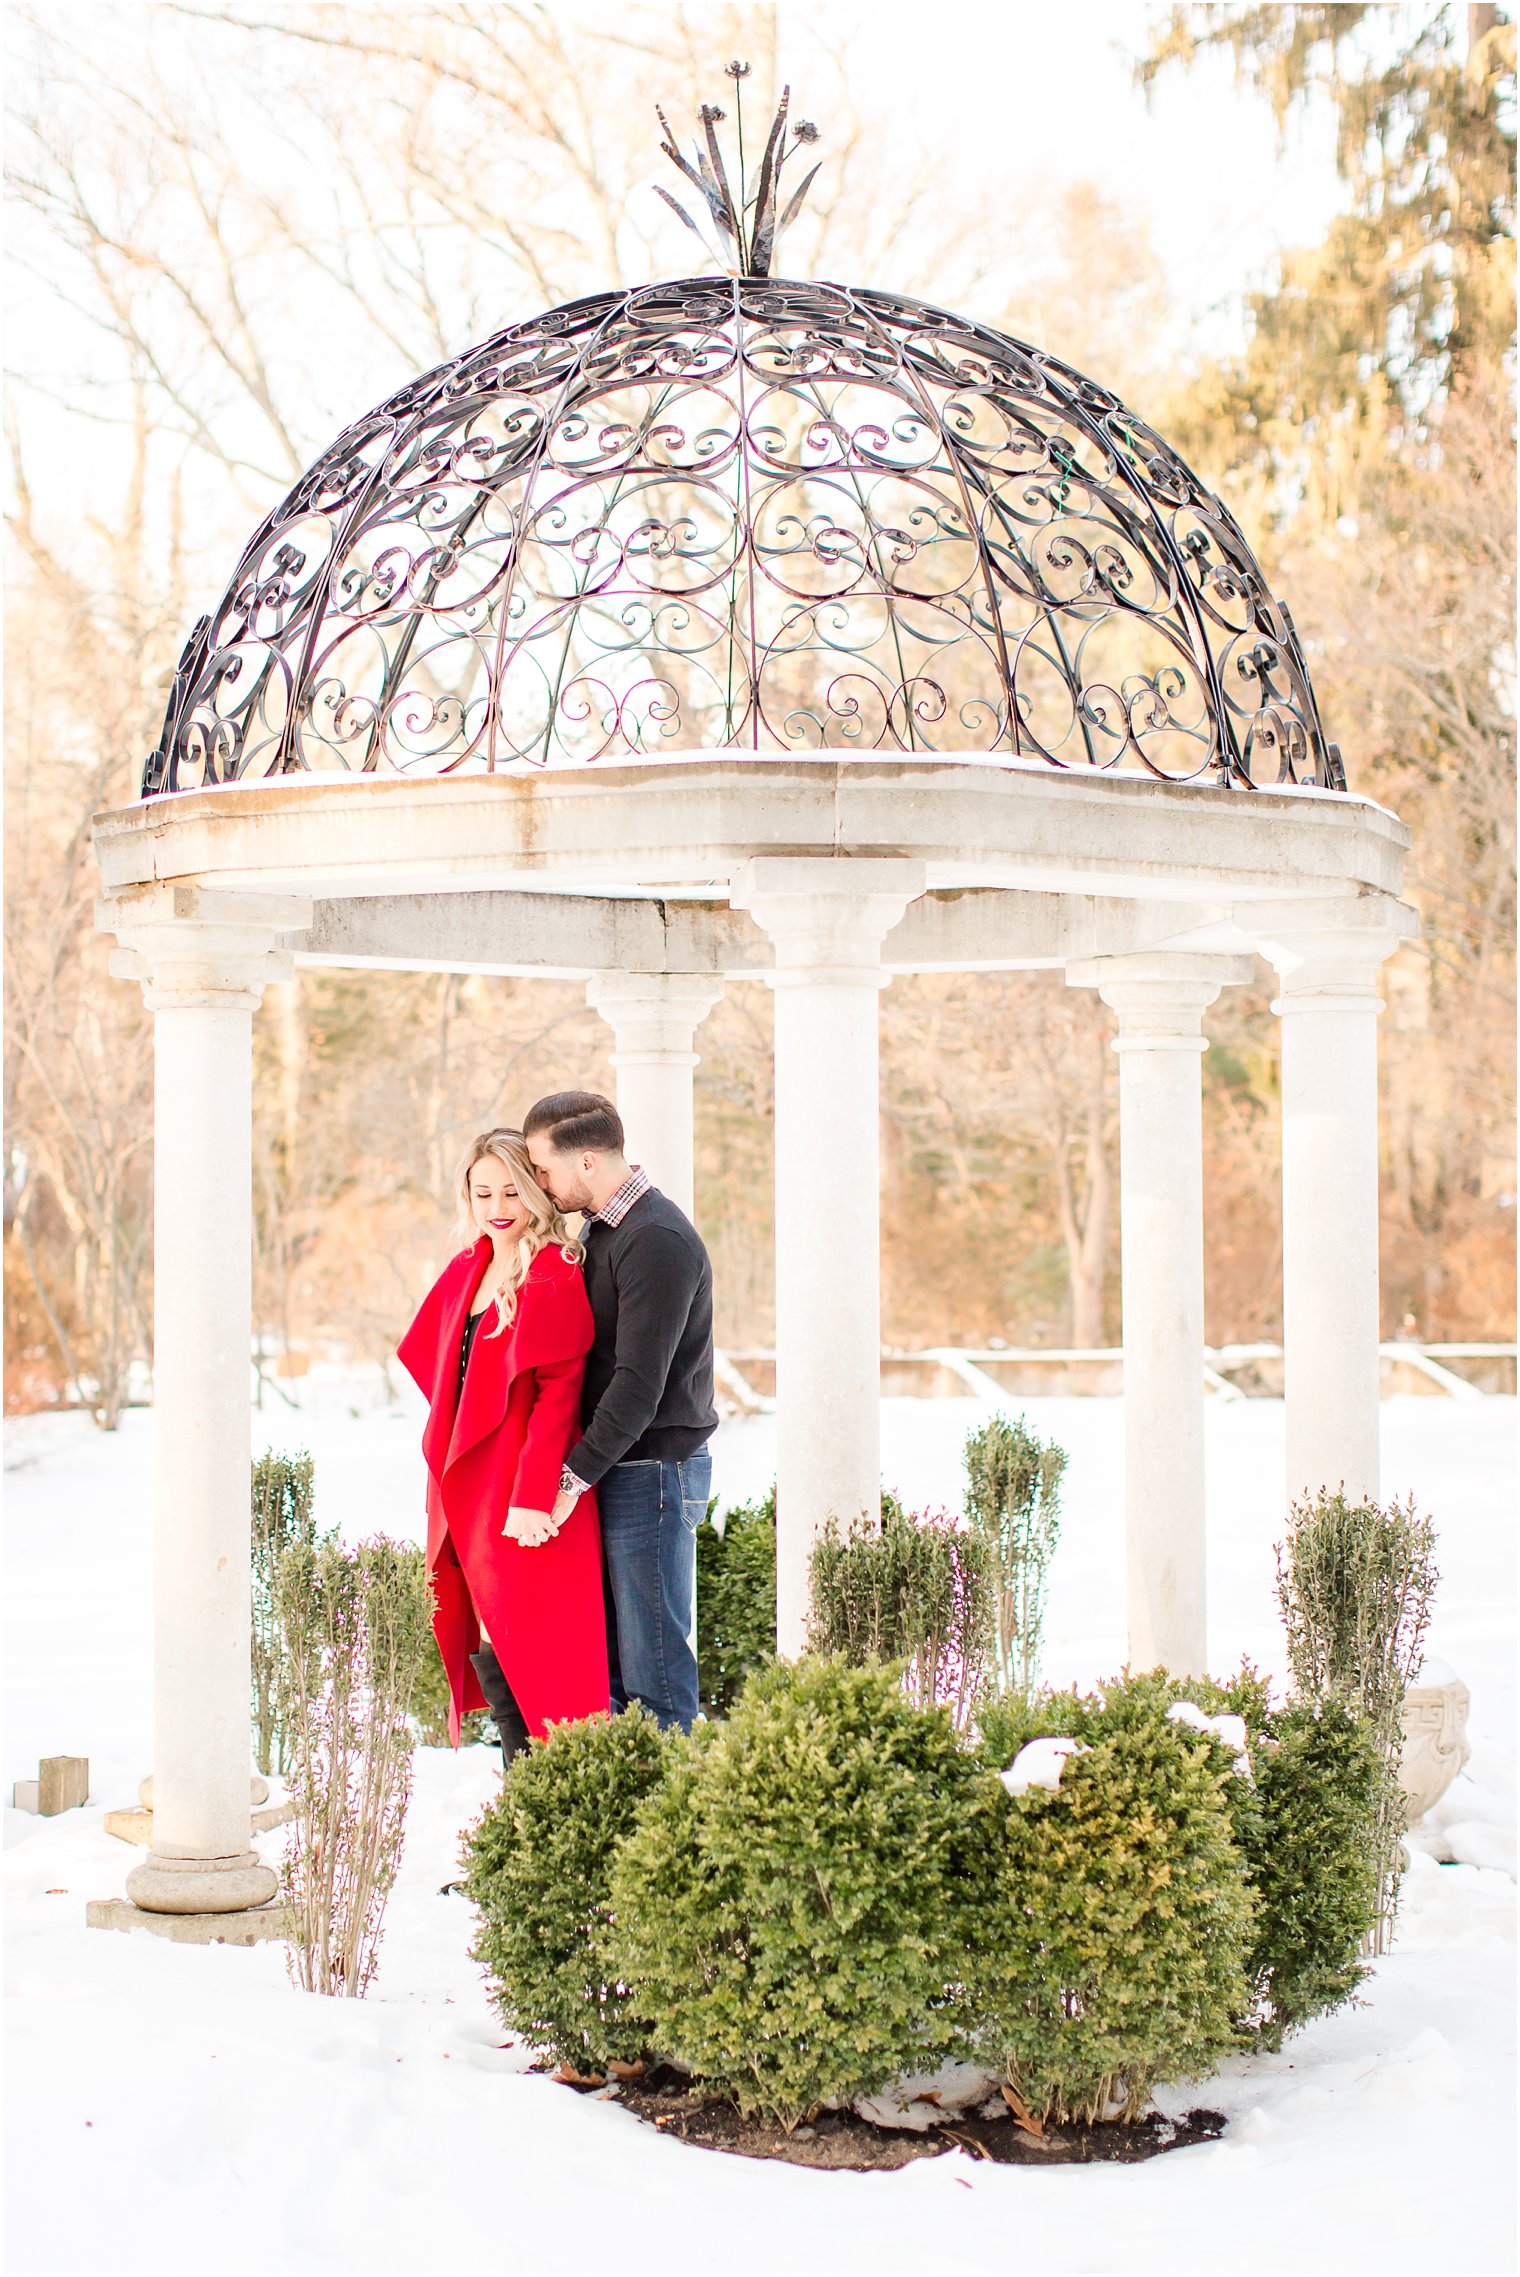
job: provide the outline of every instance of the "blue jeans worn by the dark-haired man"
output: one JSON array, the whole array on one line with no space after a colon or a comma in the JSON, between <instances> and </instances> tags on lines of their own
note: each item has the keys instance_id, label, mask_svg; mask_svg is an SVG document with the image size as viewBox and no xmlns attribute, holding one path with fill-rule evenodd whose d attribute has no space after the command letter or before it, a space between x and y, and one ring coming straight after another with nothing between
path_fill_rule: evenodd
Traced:
<instances>
[{"instance_id":1,"label":"blue jeans worn by the dark-haired man","mask_svg":"<svg viewBox=\"0 0 1520 2277\"><path fill-rule=\"evenodd\" d=\"M696 1528L710 1485L705 1448L685 1462L617 1462L596 1485L612 1715L642 1701L664 1728L692 1728Z\"/></svg>"}]
</instances>

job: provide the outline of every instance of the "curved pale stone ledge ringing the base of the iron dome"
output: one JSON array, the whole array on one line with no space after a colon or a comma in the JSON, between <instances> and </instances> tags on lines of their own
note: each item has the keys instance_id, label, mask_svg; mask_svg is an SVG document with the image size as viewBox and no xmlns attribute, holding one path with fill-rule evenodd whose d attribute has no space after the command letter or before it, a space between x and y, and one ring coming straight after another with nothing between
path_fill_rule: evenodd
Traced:
<instances>
[{"instance_id":1,"label":"curved pale stone ledge ringing the base of the iron dome","mask_svg":"<svg viewBox=\"0 0 1520 2277\"><path fill-rule=\"evenodd\" d=\"M1370 799L1031 763L701 754L544 774L314 776L96 817L107 893L148 883L721 897L755 856L924 861L931 890L1190 904L1390 893L1409 831Z\"/></svg>"}]
</instances>

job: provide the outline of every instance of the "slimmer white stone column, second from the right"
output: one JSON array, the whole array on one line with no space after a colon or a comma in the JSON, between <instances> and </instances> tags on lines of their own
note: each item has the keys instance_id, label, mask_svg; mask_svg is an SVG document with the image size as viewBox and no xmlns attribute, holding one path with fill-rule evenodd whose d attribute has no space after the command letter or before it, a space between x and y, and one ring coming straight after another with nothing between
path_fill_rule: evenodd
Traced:
<instances>
[{"instance_id":1,"label":"slimmer white stone column, second from the right","mask_svg":"<svg viewBox=\"0 0 1520 2277\"><path fill-rule=\"evenodd\" d=\"M1124 1542L1135 1669L1208 1667L1204 1562L1204 1113L1199 1022L1249 956L1067 965L1120 1016Z\"/></svg>"}]
</instances>

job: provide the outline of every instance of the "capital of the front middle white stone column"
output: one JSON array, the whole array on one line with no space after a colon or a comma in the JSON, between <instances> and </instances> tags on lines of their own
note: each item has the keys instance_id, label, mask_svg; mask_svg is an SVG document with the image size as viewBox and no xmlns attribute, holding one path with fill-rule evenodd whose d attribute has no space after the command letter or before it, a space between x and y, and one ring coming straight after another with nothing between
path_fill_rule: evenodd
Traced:
<instances>
[{"instance_id":1,"label":"capital of the front middle white stone column","mask_svg":"<svg viewBox=\"0 0 1520 2277\"><path fill-rule=\"evenodd\" d=\"M762 854L735 870L728 902L746 909L769 936L771 986L867 981L885 988L881 945L926 890L922 861Z\"/></svg>"}]
</instances>

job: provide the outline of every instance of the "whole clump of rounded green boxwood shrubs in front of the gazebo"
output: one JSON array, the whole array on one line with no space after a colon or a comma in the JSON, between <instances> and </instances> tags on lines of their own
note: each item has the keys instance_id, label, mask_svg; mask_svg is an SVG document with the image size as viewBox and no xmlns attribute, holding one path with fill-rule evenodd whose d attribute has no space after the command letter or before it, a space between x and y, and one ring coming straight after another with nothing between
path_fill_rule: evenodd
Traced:
<instances>
[{"instance_id":1,"label":"whole clump of rounded green boxwood shrubs in front of the gazebo","mask_svg":"<svg viewBox=\"0 0 1520 2277\"><path fill-rule=\"evenodd\" d=\"M1242 1717L1249 1778L1181 1699ZM1079 1751L1015 1797L1035 1737ZM689 1737L535 1742L469 1840L476 1956L573 2070L658 2052L787 2129L951 2054L1044 2118L1138 2118L1352 1997L1374 1787L1352 1717L1254 1669L990 1701L969 1746L901 1662L771 1662Z\"/></svg>"}]
</instances>

